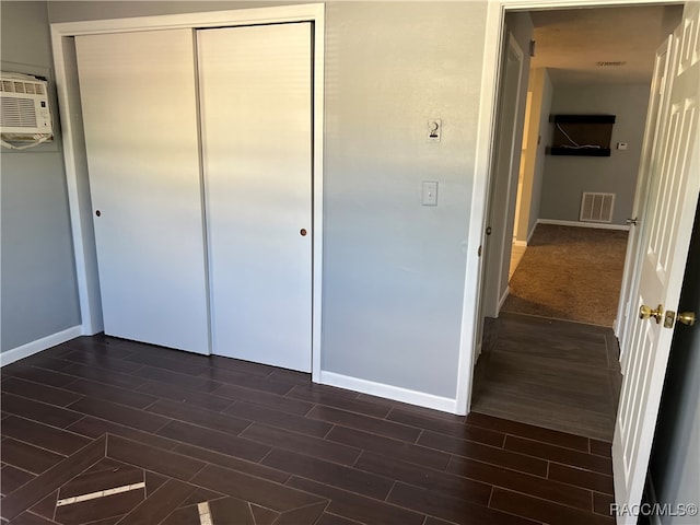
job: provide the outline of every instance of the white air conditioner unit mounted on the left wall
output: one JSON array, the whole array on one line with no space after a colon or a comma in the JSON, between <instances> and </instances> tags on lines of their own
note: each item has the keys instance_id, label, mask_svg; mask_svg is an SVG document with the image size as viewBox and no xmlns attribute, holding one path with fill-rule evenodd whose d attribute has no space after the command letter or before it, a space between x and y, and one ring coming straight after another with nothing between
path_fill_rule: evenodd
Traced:
<instances>
[{"instance_id":1,"label":"white air conditioner unit mounted on the left wall","mask_svg":"<svg viewBox=\"0 0 700 525\"><path fill-rule=\"evenodd\" d=\"M2 145L14 148L10 142L36 145L54 138L46 81L28 74L0 72L0 101Z\"/></svg>"}]
</instances>

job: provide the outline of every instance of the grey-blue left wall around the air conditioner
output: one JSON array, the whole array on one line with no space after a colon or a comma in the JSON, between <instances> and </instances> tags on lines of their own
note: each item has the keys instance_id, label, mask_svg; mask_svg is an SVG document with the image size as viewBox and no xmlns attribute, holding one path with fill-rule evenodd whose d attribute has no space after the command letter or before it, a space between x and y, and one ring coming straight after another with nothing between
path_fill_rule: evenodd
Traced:
<instances>
[{"instance_id":1,"label":"grey-blue left wall around the air conditioner","mask_svg":"<svg viewBox=\"0 0 700 525\"><path fill-rule=\"evenodd\" d=\"M0 16L2 70L51 77L46 3L3 0ZM59 140L33 150L3 149L0 168L5 352L79 325L80 311Z\"/></svg>"}]
</instances>

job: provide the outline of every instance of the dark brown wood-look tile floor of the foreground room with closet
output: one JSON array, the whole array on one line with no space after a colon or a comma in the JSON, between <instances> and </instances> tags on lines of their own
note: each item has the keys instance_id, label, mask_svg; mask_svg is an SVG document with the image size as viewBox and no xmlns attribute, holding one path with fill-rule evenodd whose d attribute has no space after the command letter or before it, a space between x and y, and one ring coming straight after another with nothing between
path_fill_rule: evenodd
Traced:
<instances>
[{"instance_id":1,"label":"dark brown wood-look tile floor of the foreground room with closet","mask_svg":"<svg viewBox=\"0 0 700 525\"><path fill-rule=\"evenodd\" d=\"M203 502L250 525L612 523L608 442L299 372L95 336L0 387L3 525L189 525Z\"/></svg>"}]
</instances>

